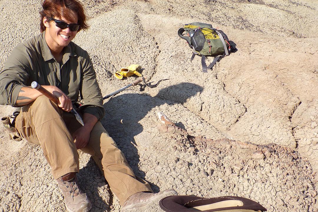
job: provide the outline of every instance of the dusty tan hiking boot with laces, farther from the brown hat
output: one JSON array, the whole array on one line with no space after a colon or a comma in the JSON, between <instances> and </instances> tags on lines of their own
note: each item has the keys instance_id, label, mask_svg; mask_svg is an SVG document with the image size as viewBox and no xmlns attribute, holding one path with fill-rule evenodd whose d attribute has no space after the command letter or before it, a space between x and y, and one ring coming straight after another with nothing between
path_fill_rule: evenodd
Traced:
<instances>
[{"instance_id":1,"label":"dusty tan hiking boot with laces, farther from the brown hat","mask_svg":"<svg viewBox=\"0 0 318 212\"><path fill-rule=\"evenodd\" d=\"M86 194L78 187L76 176L65 181L62 177L56 180L64 196L65 206L69 212L88 212L92 208Z\"/></svg>"}]
</instances>

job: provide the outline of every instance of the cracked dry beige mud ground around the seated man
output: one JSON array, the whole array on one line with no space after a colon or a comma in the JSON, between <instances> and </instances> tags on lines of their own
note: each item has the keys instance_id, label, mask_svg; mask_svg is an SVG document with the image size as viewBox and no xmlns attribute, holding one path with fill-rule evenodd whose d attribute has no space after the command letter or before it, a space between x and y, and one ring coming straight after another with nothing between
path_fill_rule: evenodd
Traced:
<instances>
[{"instance_id":1,"label":"cracked dry beige mud ground around the seated man","mask_svg":"<svg viewBox=\"0 0 318 212\"><path fill-rule=\"evenodd\" d=\"M135 79L113 77L133 63L149 82L169 79L104 101L104 127L155 191L238 195L268 211L318 210L316 1L82 2L91 28L74 42L90 54L104 95ZM0 69L15 45L39 33L39 9L40 1L0 0ZM176 34L194 21L225 31L238 48L207 74ZM2 116L13 110L0 106ZM162 127L159 111L177 127ZM80 167L92 211L119 211L88 155L80 153ZM41 148L2 130L0 212L65 210Z\"/></svg>"}]
</instances>

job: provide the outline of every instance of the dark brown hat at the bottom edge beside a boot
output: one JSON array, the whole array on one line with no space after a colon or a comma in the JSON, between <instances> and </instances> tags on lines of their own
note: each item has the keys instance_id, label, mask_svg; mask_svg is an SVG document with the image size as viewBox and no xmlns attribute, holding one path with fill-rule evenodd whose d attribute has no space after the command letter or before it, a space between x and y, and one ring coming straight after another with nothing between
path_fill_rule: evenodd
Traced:
<instances>
[{"instance_id":1,"label":"dark brown hat at the bottom edge beside a boot","mask_svg":"<svg viewBox=\"0 0 318 212\"><path fill-rule=\"evenodd\" d=\"M202 198L197 196L168 196L160 200L159 205L166 212L222 211L253 212L267 211L259 203L237 196Z\"/></svg>"}]
</instances>

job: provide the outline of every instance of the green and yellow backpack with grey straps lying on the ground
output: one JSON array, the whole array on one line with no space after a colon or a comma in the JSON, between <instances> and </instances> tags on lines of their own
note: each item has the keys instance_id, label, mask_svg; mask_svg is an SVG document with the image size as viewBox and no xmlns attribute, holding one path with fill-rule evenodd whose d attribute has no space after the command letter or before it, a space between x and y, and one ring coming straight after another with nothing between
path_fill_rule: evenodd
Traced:
<instances>
[{"instance_id":1,"label":"green and yellow backpack with grey straps lying on the ground","mask_svg":"<svg viewBox=\"0 0 318 212\"><path fill-rule=\"evenodd\" d=\"M187 36L183 35L186 32ZM236 50L231 46L229 39L221 30L212 27L211 24L193 22L185 24L183 28L178 30L178 35L187 41L193 49L191 60L195 55L201 56L202 72L207 73L207 69L212 69L220 58L223 58ZM220 55L221 54L221 55ZM206 56L215 56L209 66L205 64Z\"/></svg>"}]
</instances>

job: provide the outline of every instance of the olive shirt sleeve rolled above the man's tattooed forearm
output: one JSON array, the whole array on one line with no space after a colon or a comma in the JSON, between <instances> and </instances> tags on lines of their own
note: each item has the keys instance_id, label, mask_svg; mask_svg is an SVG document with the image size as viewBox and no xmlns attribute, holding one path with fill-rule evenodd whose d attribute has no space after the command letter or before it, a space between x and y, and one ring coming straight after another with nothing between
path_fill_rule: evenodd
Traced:
<instances>
[{"instance_id":1,"label":"olive shirt sleeve rolled above the man's tattooed forearm","mask_svg":"<svg viewBox=\"0 0 318 212\"><path fill-rule=\"evenodd\" d=\"M24 45L17 45L0 72L0 104L15 106L21 88L28 79L30 61Z\"/></svg>"}]
</instances>

